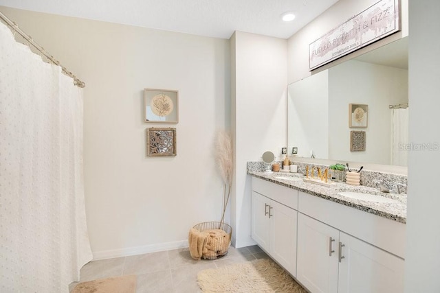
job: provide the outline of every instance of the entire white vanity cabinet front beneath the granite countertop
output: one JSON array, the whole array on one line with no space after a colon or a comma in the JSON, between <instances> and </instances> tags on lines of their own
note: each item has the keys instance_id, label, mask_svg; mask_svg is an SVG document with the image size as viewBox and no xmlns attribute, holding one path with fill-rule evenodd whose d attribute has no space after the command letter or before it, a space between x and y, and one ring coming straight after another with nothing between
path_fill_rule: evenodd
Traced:
<instances>
[{"instance_id":1,"label":"entire white vanity cabinet front beneath the granite countertop","mask_svg":"<svg viewBox=\"0 0 440 293\"><path fill-rule=\"evenodd\" d=\"M307 290L404 291L406 225L252 178L252 238Z\"/></svg>"}]
</instances>

